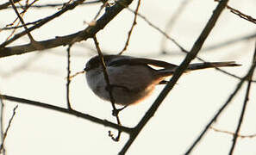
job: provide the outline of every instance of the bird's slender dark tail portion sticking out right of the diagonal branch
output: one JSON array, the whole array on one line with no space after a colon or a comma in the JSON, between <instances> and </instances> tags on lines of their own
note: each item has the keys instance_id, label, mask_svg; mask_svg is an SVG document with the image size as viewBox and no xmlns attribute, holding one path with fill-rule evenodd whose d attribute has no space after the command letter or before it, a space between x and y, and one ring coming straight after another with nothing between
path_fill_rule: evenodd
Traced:
<instances>
[{"instance_id":1,"label":"bird's slender dark tail portion sticking out right of the diagonal branch","mask_svg":"<svg viewBox=\"0 0 256 155\"><path fill-rule=\"evenodd\" d=\"M206 68L215 68L215 67L228 67L228 66L240 66L239 64L235 64L234 61L227 62L206 62L206 63L196 63L190 64L188 70L201 70Z\"/></svg>"}]
</instances>

